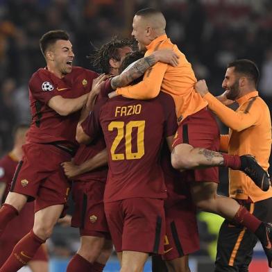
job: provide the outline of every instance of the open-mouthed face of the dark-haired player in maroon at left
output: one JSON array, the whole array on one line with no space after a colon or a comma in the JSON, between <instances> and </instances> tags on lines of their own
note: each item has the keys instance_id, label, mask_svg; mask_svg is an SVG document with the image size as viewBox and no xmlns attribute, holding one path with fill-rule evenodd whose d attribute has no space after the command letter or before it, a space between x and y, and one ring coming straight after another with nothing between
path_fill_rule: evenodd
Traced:
<instances>
[{"instance_id":1,"label":"open-mouthed face of the dark-haired player in maroon at left","mask_svg":"<svg viewBox=\"0 0 272 272\"><path fill-rule=\"evenodd\" d=\"M74 52L69 40L57 40L46 52L48 66L53 67L57 76L63 77L71 73Z\"/></svg>"}]
</instances>

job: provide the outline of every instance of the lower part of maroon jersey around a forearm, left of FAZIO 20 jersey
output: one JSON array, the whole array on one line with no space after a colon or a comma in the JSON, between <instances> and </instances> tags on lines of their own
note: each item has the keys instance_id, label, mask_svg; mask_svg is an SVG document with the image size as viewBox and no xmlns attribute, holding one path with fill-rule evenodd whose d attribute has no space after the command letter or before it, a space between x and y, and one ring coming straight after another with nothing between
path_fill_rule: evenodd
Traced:
<instances>
[{"instance_id":1,"label":"lower part of maroon jersey around a forearm, left of FAZIO 20 jersey","mask_svg":"<svg viewBox=\"0 0 272 272\"><path fill-rule=\"evenodd\" d=\"M79 165L93 158L96 154L103 151L105 149L105 141L103 135L98 137L94 142L89 145L80 144L78 151L76 151L76 155L74 156L74 163ZM99 167L94 169L93 171L89 171L87 173L83 173L80 176L76 176L74 180L80 181L89 181L89 180L99 180L101 182L105 182L108 174L108 166Z\"/></svg>"}]
</instances>

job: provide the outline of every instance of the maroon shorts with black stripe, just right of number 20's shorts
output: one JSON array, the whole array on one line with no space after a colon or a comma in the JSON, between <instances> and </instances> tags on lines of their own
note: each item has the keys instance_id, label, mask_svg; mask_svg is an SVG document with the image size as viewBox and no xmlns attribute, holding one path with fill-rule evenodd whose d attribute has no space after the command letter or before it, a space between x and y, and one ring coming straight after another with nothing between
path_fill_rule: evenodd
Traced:
<instances>
[{"instance_id":1,"label":"maroon shorts with black stripe, just right of number 20's shorts","mask_svg":"<svg viewBox=\"0 0 272 272\"><path fill-rule=\"evenodd\" d=\"M194 204L184 199L165 208L164 260L170 261L199 250Z\"/></svg>"}]
</instances>

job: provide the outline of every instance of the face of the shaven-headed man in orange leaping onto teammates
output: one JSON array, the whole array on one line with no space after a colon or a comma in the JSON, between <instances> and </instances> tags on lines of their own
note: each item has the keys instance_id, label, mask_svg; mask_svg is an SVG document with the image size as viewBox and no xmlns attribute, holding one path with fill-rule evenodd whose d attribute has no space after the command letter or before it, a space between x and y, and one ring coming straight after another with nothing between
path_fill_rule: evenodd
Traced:
<instances>
[{"instance_id":1,"label":"face of the shaven-headed man in orange leaping onto teammates","mask_svg":"<svg viewBox=\"0 0 272 272\"><path fill-rule=\"evenodd\" d=\"M145 51L146 45L150 44L148 26L146 20L138 15L133 18L133 32L131 33L138 42L139 51Z\"/></svg>"}]
</instances>

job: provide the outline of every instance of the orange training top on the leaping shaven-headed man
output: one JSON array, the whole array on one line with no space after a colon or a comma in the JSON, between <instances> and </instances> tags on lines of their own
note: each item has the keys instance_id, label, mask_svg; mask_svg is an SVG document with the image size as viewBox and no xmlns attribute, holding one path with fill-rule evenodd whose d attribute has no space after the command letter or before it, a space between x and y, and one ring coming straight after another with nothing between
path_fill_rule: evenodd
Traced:
<instances>
[{"instance_id":1,"label":"orange training top on the leaping shaven-headed man","mask_svg":"<svg viewBox=\"0 0 272 272\"><path fill-rule=\"evenodd\" d=\"M178 121L181 121L188 115L205 108L207 102L194 90L196 77L191 64L176 44L171 43L167 35L157 37L146 46L145 56L149 56L159 47L160 49L172 49L178 54L180 57L178 67L158 62L146 71L140 83L117 88L116 92L130 99L153 99L158 96L160 90L171 94L176 104Z\"/></svg>"}]
</instances>

